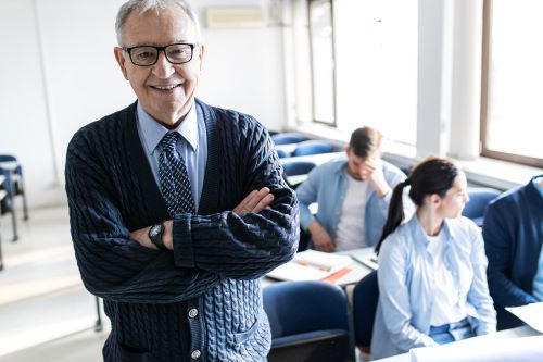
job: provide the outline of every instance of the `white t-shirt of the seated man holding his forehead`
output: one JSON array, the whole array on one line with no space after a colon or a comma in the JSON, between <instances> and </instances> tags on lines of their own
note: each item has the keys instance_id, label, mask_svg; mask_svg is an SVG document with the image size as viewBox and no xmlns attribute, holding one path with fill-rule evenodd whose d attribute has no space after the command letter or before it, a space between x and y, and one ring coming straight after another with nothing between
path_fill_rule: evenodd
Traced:
<instances>
[{"instance_id":1,"label":"white t-shirt of the seated man holding his forehead","mask_svg":"<svg viewBox=\"0 0 543 362\"><path fill-rule=\"evenodd\" d=\"M354 179L345 171L348 186L336 230L336 251L366 247L364 215L369 183Z\"/></svg>"}]
</instances>

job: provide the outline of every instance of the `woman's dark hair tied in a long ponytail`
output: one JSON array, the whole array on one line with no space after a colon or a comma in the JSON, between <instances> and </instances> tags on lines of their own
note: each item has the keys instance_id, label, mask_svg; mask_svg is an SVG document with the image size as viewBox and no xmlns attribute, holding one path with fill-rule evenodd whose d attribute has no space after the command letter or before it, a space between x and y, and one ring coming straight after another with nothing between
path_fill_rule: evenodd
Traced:
<instances>
[{"instance_id":1,"label":"woman's dark hair tied in a long ponytail","mask_svg":"<svg viewBox=\"0 0 543 362\"><path fill-rule=\"evenodd\" d=\"M411 185L409 198L420 207L425 197L437 194L444 197L446 191L453 186L454 179L458 176L458 168L449 160L443 158L430 157L418 163L413 168L409 177L396 185L390 200L389 215L382 235L377 242L375 251L379 253L382 241L392 234L404 220L404 208L402 194L404 187Z\"/></svg>"}]
</instances>

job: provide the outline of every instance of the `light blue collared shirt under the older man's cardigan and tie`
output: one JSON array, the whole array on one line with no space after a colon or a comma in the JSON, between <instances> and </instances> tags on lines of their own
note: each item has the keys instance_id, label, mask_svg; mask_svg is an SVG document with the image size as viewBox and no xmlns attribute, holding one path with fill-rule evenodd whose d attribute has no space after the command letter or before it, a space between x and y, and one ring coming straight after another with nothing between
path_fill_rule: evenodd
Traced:
<instances>
[{"instance_id":1,"label":"light blue collared shirt under the older man's cardigan and tie","mask_svg":"<svg viewBox=\"0 0 543 362\"><path fill-rule=\"evenodd\" d=\"M153 171L156 185L160 188L159 155L162 150L159 143L169 129L147 113L139 102L137 107L137 120L139 138ZM173 132L181 135L177 141L177 151L185 160L190 178L192 200L194 200L194 208L198 210L200 197L202 196L205 165L207 163L207 134L203 115L195 103L192 103L185 120Z\"/></svg>"}]
</instances>

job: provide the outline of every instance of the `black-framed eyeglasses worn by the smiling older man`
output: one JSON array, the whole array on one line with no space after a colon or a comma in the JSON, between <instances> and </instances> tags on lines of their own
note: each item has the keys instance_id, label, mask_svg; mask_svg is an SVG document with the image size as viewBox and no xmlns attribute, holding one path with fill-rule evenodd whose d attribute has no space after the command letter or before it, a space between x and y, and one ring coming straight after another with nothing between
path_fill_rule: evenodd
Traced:
<instances>
[{"instance_id":1,"label":"black-framed eyeglasses worn by the smiling older man","mask_svg":"<svg viewBox=\"0 0 543 362\"><path fill-rule=\"evenodd\" d=\"M138 46L131 48L123 48L130 57L134 65L150 66L159 60L159 53L164 51L166 59L172 64L184 64L192 60L195 43L176 42L165 47L154 46Z\"/></svg>"}]
</instances>

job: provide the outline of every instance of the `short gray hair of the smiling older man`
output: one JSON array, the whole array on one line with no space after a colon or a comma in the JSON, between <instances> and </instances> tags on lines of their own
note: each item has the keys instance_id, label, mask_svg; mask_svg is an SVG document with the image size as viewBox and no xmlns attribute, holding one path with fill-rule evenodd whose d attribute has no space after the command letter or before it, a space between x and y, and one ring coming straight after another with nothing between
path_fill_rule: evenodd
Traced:
<instances>
[{"instance_id":1,"label":"short gray hair of the smiling older man","mask_svg":"<svg viewBox=\"0 0 543 362\"><path fill-rule=\"evenodd\" d=\"M192 21L194 28L197 30L197 41L202 41L202 33L200 29L200 22L198 21L198 15L194 13L192 8L184 1L184 0L129 0L125 2L119 9L117 13L117 20L115 21L115 32L117 33L117 42L119 46L123 46L123 35L124 35L124 25L128 15L132 11L137 11L139 15L148 12L155 11L159 13L162 10L169 8L171 5L177 5L185 11L185 13Z\"/></svg>"}]
</instances>

